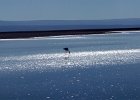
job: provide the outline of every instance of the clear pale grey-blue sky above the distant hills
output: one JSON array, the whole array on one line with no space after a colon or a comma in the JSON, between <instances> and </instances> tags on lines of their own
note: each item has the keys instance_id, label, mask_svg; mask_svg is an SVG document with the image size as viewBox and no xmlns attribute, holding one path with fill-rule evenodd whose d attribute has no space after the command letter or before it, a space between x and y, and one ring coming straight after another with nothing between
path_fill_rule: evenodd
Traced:
<instances>
[{"instance_id":1,"label":"clear pale grey-blue sky above the distant hills","mask_svg":"<svg viewBox=\"0 0 140 100\"><path fill-rule=\"evenodd\" d=\"M140 0L0 0L0 20L140 18Z\"/></svg>"}]
</instances>

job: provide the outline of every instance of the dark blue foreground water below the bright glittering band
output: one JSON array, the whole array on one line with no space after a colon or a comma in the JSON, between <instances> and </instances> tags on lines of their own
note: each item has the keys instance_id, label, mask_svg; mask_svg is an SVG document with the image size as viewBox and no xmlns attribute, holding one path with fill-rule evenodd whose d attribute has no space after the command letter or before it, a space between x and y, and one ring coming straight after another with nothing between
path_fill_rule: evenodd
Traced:
<instances>
[{"instance_id":1,"label":"dark blue foreground water below the bright glittering band","mask_svg":"<svg viewBox=\"0 0 140 100\"><path fill-rule=\"evenodd\" d=\"M26 100L139 100L139 64L1 72L0 98Z\"/></svg>"}]
</instances>

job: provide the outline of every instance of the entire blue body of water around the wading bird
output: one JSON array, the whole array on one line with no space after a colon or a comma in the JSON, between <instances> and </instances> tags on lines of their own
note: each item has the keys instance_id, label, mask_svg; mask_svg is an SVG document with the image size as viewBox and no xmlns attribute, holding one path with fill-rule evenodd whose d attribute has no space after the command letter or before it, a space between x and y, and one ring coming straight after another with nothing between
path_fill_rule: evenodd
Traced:
<instances>
[{"instance_id":1,"label":"entire blue body of water around the wading bird","mask_svg":"<svg viewBox=\"0 0 140 100\"><path fill-rule=\"evenodd\" d=\"M0 99L139 100L139 39L126 32L0 40Z\"/></svg>"}]
</instances>

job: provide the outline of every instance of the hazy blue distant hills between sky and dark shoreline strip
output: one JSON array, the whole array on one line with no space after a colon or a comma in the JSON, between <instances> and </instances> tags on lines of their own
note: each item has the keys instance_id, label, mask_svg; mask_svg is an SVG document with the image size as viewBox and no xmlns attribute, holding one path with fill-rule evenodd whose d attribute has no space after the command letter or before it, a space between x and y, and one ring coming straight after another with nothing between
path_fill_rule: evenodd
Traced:
<instances>
[{"instance_id":1,"label":"hazy blue distant hills between sky and dark shoreline strip","mask_svg":"<svg viewBox=\"0 0 140 100\"><path fill-rule=\"evenodd\" d=\"M110 20L0 21L0 32L140 28L140 18Z\"/></svg>"}]
</instances>

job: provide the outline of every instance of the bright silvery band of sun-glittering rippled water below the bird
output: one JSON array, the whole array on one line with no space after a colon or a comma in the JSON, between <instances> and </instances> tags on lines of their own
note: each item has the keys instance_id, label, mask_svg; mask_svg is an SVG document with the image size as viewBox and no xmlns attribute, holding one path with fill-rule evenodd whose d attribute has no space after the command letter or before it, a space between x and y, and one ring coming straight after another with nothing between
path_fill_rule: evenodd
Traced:
<instances>
[{"instance_id":1,"label":"bright silvery band of sun-glittering rippled water below the bird","mask_svg":"<svg viewBox=\"0 0 140 100\"><path fill-rule=\"evenodd\" d=\"M47 71L47 69L98 67L98 65L121 65L140 63L140 49L71 54L34 54L0 58L1 71Z\"/></svg>"}]
</instances>

